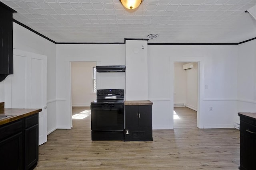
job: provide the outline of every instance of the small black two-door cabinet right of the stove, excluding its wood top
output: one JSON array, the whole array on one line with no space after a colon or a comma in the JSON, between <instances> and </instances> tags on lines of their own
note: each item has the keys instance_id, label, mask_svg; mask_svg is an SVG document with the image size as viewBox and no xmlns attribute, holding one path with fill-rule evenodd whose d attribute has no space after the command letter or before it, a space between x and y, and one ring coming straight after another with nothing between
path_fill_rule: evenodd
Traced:
<instances>
[{"instance_id":1,"label":"small black two-door cabinet right of the stove, excluding its wood top","mask_svg":"<svg viewBox=\"0 0 256 170\"><path fill-rule=\"evenodd\" d=\"M124 141L153 141L152 105L125 105L124 115Z\"/></svg>"}]
</instances>

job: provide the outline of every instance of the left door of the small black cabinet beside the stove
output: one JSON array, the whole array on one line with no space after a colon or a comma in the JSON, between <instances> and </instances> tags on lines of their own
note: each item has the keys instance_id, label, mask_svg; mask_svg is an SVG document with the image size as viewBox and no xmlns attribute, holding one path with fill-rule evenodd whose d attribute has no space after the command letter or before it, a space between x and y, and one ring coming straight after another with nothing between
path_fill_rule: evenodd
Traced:
<instances>
[{"instance_id":1,"label":"left door of the small black cabinet beside the stove","mask_svg":"<svg viewBox=\"0 0 256 170\"><path fill-rule=\"evenodd\" d=\"M125 109L125 127L138 127L138 106L124 106Z\"/></svg>"}]
</instances>

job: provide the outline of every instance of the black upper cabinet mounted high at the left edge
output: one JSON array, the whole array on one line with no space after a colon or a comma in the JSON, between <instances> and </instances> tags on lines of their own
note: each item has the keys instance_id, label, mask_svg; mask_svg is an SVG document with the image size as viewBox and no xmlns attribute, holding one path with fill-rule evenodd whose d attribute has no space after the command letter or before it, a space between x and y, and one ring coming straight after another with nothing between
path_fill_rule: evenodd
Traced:
<instances>
[{"instance_id":1,"label":"black upper cabinet mounted high at the left edge","mask_svg":"<svg viewBox=\"0 0 256 170\"><path fill-rule=\"evenodd\" d=\"M0 82L13 74L12 8L0 2Z\"/></svg>"}]
</instances>

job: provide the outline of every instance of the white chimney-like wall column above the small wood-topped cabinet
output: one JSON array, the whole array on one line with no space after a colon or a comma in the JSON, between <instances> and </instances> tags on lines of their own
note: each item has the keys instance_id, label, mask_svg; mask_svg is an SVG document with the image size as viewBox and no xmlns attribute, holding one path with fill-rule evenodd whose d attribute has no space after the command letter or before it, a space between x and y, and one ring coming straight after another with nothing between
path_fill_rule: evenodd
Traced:
<instances>
[{"instance_id":1,"label":"white chimney-like wall column above the small wood-topped cabinet","mask_svg":"<svg viewBox=\"0 0 256 170\"><path fill-rule=\"evenodd\" d=\"M143 46L143 49L142 49ZM147 41L126 40L126 100L148 100Z\"/></svg>"}]
</instances>

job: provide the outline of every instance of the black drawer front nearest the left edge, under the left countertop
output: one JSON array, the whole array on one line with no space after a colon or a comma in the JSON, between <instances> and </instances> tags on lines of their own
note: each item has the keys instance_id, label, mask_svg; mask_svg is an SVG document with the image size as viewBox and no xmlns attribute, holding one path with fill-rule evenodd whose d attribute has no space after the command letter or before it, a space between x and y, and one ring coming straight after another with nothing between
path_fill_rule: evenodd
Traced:
<instances>
[{"instance_id":1,"label":"black drawer front nearest the left edge, under the left countertop","mask_svg":"<svg viewBox=\"0 0 256 170\"><path fill-rule=\"evenodd\" d=\"M0 127L0 139L5 139L22 131L22 120L11 122Z\"/></svg>"}]
</instances>

